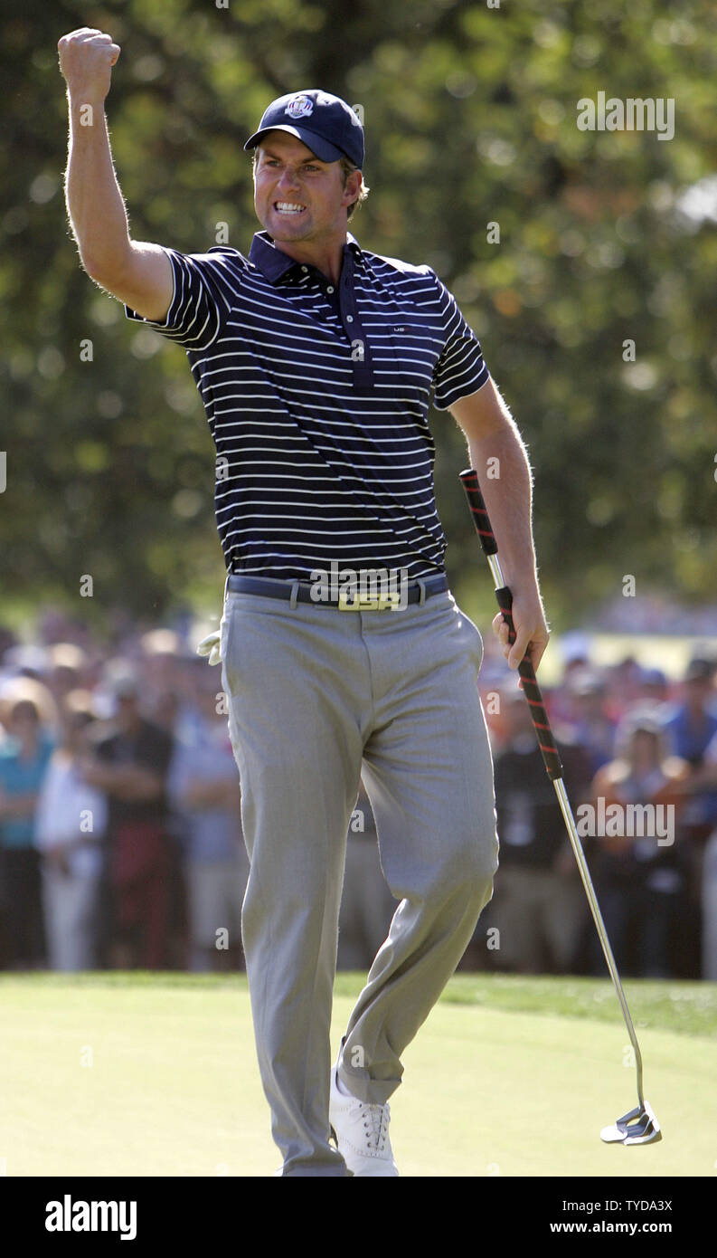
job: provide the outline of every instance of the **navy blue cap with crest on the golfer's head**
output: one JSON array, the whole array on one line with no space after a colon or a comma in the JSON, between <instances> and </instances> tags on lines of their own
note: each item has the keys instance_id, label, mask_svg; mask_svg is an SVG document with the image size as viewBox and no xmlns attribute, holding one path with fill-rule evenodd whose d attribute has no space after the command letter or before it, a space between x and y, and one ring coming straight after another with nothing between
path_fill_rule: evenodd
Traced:
<instances>
[{"instance_id":1,"label":"navy blue cap with crest on the golfer's head","mask_svg":"<svg viewBox=\"0 0 717 1258\"><path fill-rule=\"evenodd\" d=\"M269 131L296 136L319 161L348 157L359 170L363 167L364 137L359 117L350 104L330 92L311 88L272 101L245 150L255 148Z\"/></svg>"}]
</instances>

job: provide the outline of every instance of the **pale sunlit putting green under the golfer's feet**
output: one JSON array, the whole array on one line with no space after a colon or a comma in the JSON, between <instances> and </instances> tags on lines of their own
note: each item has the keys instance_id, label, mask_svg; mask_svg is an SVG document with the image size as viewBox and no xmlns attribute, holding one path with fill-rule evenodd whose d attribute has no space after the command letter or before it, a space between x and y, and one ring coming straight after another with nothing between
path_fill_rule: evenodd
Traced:
<instances>
[{"instance_id":1,"label":"pale sunlit putting green under the golfer's feet","mask_svg":"<svg viewBox=\"0 0 717 1258\"><path fill-rule=\"evenodd\" d=\"M403 1176L714 1175L712 1013L698 1034L638 1024L645 1093L664 1138L606 1146L600 1127L635 1103L617 1005L610 1021L603 1011L593 1019L471 1003L473 990L490 1001L491 981L452 980L406 1050L391 1105ZM549 980L547 1008L566 1008L575 981ZM713 989L693 986L702 1008L709 993L712 1009ZM600 1001L612 990L593 988ZM9 1176L278 1169L244 979L8 975L0 989ZM338 980L334 1049L359 989L359 976ZM515 990L530 1003L531 980ZM635 991L639 984L628 993L634 1014Z\"/></svg>"}]
</instances>

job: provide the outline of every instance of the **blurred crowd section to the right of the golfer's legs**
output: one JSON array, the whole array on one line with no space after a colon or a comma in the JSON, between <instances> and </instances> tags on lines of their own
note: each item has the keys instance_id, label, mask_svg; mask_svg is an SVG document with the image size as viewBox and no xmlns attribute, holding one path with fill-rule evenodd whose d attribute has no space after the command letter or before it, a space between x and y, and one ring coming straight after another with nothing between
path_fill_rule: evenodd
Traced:
<instances>
[{"instance_id":1,"label":"blurred crowd section to the right of the golfer's legs","mask_svg":"<svg viewBox=\"0 0 717 1258\"><path fill-rule=\"evenodd\" d=\"M672 682L634 658L596 668L586 650L565 662L559 686L542 688L608 937L628 975L717 980L716 674L707 650ZM466 961L605 974L529 704L515 682L499 693L500 715L488 721L500 871Z\"/></svg>"}]
</instances>

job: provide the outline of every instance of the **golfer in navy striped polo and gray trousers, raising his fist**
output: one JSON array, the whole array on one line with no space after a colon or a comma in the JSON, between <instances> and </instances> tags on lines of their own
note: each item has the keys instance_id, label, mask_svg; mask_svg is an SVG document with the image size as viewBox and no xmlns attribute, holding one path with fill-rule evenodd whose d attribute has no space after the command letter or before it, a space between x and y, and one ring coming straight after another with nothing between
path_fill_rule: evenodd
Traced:
<instances>
[{"instance_id":1,"label":"golfer in navy striped polo and gray trousers, raising his fist","mask_svg":"<svg viewBox=\"0 0 717 1258\"><path fill-rule=\"evenodd\" d=\"M247 255L129 238L103 117L119 48L60 40L68 211L83 265L182 345L217 453L222 660L251 868L242 940L283 1176L396 1176L401 1054L492 894L482 638L457 606L428 408L463 429L514 591L512 668L547 644L525 447L477 337L428 265L363 249L363 127L326 92L274 101L247 140L261 231ZM93 103L102 125L83 127ZM495 477L495 470L500 476ZM373 584L372 584L373 582ZM359 777L399 901L334 1066L330 1014ZM221 923L217 923L221 925Z\"/></svg>"}]
</instances>

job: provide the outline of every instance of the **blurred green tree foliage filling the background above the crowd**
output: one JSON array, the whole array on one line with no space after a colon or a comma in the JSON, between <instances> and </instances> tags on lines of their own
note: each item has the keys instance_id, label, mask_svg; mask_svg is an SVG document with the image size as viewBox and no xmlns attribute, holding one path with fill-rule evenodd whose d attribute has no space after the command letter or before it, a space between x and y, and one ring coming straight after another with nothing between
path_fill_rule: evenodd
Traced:
<instances>
[{"instance_id":1,"label":"blurred green tree foliage filling the background above the crowd","mask_svg":"<svg viewBox=\"0 0 717 1258\"><path fill-rule=\"evenodd\" d=\"M136 239L198 253L226 223L247 252L242 143L269 101L323 86L363 106L372 191L352 229L436 267L481 337L529 447L554 624L625 572L638 590L713 595L708 4L48 0L15 6L0 42L6 596L74 601L90 574L88 616L113 601L159 616L216 601L224 577L186 356L92 284L68 229L57 42L85 24L122 44L107 114ZM601 91L672 98L674 137L579 130L578 102ZM467 594L485 574L456 481L463 438L448 414L432 428L450 571Z\"/></svg>"}]
</instances>

